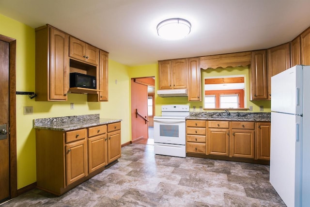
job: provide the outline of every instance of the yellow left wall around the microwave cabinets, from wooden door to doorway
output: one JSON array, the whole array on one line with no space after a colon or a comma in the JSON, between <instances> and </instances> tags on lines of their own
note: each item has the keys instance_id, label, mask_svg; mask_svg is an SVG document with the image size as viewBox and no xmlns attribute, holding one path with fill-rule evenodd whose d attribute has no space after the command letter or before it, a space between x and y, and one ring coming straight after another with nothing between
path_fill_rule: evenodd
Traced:
<instances>
[{"instance_id":1,"label":"yellow left wall around the microwave cabinets, from wooden door to doorway","mask_svg":"<svg viewBox=\"0 0 310 207\"><path fill-rule=\"evenodd\" d=\"M16 91L35 91L35 32L16 20L0 15L0 34L16 39ZM117 81L115 81L117 80ZM99 113L101 118L122 119L122 143L130 140L128 67L109 60L109 101L87 102L87 95L68 94L67 101L41 102L16 95L17 189L36 181L36 118ZM74 103L74 110L70 110ZM33 106L33 114L24 115L23 107Z\"/></svg>"}]
</instances>

